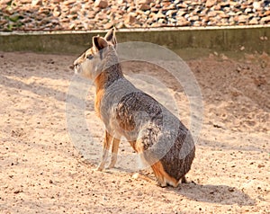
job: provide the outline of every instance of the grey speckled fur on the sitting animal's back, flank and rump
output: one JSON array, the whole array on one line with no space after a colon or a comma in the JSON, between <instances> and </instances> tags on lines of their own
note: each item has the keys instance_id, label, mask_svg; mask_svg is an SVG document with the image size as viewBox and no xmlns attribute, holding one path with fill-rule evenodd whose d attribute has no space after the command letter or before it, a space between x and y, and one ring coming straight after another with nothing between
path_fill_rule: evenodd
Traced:
<instances>
[{"instance_id":1,"label":"grey speckled fur on the sitting animal's back, flank and rump","mask_svg":"<svg viewBox=\"0 0 270 214\"><path fill-rule=\"evenodd\" d=\"M149 165L160 160L166 173L177 181L190 170L195 147L188 129L126 78L107 85L101 108L109 132L116 130L129 141L136 140L136 146L145 150L143 157ZM164 120L169 120L166 125Z\"/></svg>"}]
</instances>

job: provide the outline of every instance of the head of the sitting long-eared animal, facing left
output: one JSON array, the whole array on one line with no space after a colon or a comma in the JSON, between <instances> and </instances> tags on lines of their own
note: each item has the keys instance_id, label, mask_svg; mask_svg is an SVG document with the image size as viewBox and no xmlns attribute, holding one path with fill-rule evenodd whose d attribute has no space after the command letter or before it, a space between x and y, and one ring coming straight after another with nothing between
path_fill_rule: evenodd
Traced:
<instances>
[{"instance_id":1,"label":"head of the sitting long-eared animal, facing left","mask_svg":"<svg viewBox=\"0 0 270 214\"><path fill-rule=\"evenodd\" d=\"M104 37L94 36L92 48L87 49L74 61L75 73L94 80L106 67L117 63L116 43L114 28Z\"/></svg>"}]
</instances>

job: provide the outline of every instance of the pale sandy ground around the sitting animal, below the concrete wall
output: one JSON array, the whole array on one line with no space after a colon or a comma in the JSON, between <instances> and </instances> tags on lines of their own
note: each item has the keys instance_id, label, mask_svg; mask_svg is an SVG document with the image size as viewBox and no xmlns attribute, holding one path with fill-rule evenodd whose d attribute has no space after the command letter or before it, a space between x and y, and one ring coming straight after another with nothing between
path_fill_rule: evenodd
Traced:
<instances>
[{"instance_id":1,"label":"pale sandy ground around the sitting animal, below the concrete wall","mask_svg":"<svg viewBox=\"0 0 270 214\"><path fill-rule=\"evenodd\" d=\"M269 213L270 58L189 59L204 114L188 183L160 188L119 166L94 171L103 124L87 95L85 130L98 142L87 159L67 131L66 96L76 56L0 53L0 213ZM146 72L124 65L128 75ZM127 71L128 70L128 71ZM150 69L149 75L161 75ZM188 126L188 99L161 76ZM161 79L161 80L162 80ZM125 141L120 154L128 151Z\"/></svg>"}]
</instances>

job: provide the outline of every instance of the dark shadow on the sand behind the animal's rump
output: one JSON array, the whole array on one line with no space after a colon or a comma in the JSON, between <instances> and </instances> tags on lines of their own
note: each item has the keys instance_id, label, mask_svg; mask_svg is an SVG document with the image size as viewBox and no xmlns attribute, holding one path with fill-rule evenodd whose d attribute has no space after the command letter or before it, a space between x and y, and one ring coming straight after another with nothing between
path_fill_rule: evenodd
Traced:
<instances>
[{"instance_id":1,"label":"dark shadow on the sand behind the animal's rump","mask_svg":"<svg viewBox=\"0 0 270 214\"><path fill-rule=\"evenodd\" d=\"M223 205L238 204L238 206L253 206L256 204L256 201L251 199L247 193L227 185L203 185L192 182L181 183L177 188L167 187L167 190L183 195L193 201Z\"/></svg>"}]
</instances>

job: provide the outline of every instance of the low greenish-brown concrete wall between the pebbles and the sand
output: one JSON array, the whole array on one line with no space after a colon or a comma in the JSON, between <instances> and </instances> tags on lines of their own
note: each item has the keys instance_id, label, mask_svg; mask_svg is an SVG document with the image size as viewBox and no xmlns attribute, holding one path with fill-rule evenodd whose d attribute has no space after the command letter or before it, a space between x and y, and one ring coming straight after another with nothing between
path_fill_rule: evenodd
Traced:
<instances>
[{"instance_id":1,"label":"low greenish-brown concrete wall between the pebbles and the sand","mask_svg":"<svg viewBox=\"0 0 270 214\"><path fill-rule=\"evenodd\" d=\"M105 31L0 32L0 51L32 51L79 54L91 45L94 35ZM119 30L118 42L147 41L176 53L181 49L255 51L270 54L270 25L245 27L162 28Z\"/></svg>"}]
</instances>

